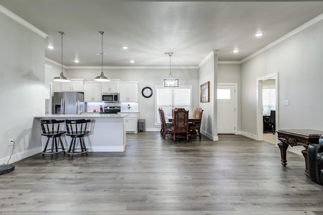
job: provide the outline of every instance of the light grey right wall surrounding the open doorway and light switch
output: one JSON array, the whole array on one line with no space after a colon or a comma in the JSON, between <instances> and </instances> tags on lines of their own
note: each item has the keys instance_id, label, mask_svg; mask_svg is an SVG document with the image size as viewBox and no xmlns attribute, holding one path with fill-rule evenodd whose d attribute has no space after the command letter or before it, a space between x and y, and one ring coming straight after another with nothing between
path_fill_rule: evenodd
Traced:
<instances>
[{"instance_id":1,"label":"light grey right wall surrounding the open doorway and light switch","mask_svg":"<svg viewBox=\"0 0 323 215\"><path fill-rule=\"evenodd\" d=\"M244 62L242 71L242 131L256 134L256 79L278 72L276 129L323 131L323 21ZM283 105L289 100L289 105Z\"/></svg>"}]
</instances>

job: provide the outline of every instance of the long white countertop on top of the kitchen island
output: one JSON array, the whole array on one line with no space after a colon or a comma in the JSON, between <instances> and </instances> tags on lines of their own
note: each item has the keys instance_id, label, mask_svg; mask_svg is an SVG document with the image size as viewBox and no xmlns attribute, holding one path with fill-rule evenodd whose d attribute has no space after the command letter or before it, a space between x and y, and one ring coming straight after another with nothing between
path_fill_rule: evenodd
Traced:
<instances>
[{"instance_id":1,"label":"long white countertop on top of the kitchen island","mask_svg":"<svg viewBox=\"0 0 323 215\"><path fill-rule=\"evenodd\" d=\"M46 114L35 116L34 118L124 118L128 114L99 114L99 113L82 113L82 114Z\"/></svg>"}]
</instances>

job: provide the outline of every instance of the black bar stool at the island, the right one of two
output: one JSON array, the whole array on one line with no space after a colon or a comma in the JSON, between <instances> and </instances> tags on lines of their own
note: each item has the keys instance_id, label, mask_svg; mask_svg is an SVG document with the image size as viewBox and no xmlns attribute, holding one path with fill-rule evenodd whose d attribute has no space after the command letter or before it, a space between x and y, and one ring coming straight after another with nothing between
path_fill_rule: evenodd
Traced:
<instances>
[{"instance_id":1,"label":"black bar stool at the island, the right one of two","mask_svg":"<svg viewBox=\"0 0 323 215\"><path fill-rule=\"evenodd\" d=\"M66 122L66 135L72 137L70 148L67 151L68 154L71 154L72 157L74 154L82 154L85 153L87 155L88 149L85 146L83 137L89 133L87 131L87 123L91 122L91 120L65 120ZM81 148L75 148L76 138L79 138ZM75 149L79 149L75 151Z\"/></svg>"}]
</instances>

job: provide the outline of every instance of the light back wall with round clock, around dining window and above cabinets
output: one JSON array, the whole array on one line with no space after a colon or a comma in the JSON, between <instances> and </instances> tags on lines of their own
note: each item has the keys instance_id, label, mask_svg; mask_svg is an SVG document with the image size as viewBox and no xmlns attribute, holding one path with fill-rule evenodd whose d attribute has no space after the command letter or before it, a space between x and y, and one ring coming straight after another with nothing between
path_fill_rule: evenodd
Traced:
<instances>
[{"instance_id":1,"label":"light back wall with round clock, around dining window and above cabinets","mask_svg":"<svg viewBox=\"0 0 323 215\"><path fill-rule=\"evenodd\" d=\"M84 78L84 81L93 81L95 76L101 73L101 69L67 69L66 75L69 78ZM153 69L153 68L126 68L126 69L111 69L103 68L105 76L110 79L121 79L121 81L138 81L139 82L139 114L140 119L146 120L146 131L158 131L155 127L155 86L163 85L165 78L169 76L170 70L167 69ZM199 106L199 83L198 83L198 69L176 69L172 67L172 75L179 79L180 85L192 85L193 108ZM150 98L145 98L141 95L143 87L149 86L153 90Z\"/></svg>"}]
</instances>

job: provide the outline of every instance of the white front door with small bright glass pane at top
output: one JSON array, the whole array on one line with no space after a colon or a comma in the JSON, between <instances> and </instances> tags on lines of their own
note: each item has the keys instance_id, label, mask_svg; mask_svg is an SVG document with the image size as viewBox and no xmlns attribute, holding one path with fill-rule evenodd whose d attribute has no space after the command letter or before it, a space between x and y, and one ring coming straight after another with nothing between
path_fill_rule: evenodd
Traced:
<instances>
[{"instance_id":1,"label":"white front door with small bright glass pane at top","mask_svg":"<svg viewBox=\"0 0 323 215\"><path fill-rule=\"evenodd\" d=\"M218 133L235 133L235 85L218 85Z\"/></svg>"}]
</instances>

